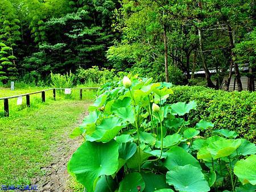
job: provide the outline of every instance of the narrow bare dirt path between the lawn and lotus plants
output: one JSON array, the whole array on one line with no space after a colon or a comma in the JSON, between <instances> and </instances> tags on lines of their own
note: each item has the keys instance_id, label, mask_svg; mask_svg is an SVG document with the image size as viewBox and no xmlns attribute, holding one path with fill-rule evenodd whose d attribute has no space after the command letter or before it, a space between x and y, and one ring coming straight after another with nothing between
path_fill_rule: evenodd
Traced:
<instances>
[{"instance_id":1,"label":"narrow bare dirt path between the lawn and lotus plants","mask_svg":"<svg viewBox=\"0 0 256 192\"><path fill-rule=\"evenodd\" d=\"M67 131L63 134L63 139L56 141L57 147L50 152L53 161L47 167L42 168L46 172L45 176L32 180L32 183L38 186L39 191L71 191L67 189L67 181L70 177L67 172L67 162L73 152L80 146L82 138L71 139L69 135L88 114L87 108L89 105L90 103L85 103L85 112L80 115L77 123L74 126L67 127Z\"/></svg>"}]
</instances>

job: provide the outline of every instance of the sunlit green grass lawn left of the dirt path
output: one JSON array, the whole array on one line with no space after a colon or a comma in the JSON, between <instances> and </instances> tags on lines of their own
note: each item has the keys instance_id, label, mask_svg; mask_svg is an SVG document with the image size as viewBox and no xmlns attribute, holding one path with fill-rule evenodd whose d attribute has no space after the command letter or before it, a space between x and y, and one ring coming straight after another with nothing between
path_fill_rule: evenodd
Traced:
<instances>
[{"instance_id":1,"label":"sunlit green grass lawn left of the dirt path","mask_svg":"<svg viewBox=\"0 0 256 192\"><path fill-rule=\"evenodd\" d=\"M0 88L0 97L36 90L42 88L16 91ZM79 101L79 90L77 92L69 98L57 93L56 101L53 101L50 91L46 93L46 103L42 103L41 95L36 94L30 99L30 108L25 104L16 106L16 99L10 99L10 117L0 118L0 185L27 185L31 178L43 176L44 171L40 168L51 161L49 151L56 147L63 132L74 126L85 111L85 104L95 94L88 91L84 101ZM3 101L0 101L2 105Z\"/></svg>"}]
</instances>

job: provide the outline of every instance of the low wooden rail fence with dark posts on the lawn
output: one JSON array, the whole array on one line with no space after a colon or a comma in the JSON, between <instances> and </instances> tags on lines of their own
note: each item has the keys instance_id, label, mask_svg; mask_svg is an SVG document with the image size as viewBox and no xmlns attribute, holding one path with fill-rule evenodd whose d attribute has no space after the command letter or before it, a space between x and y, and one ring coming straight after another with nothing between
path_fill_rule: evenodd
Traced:
<instances>
[{"instance_id":1,"label":"low wooden rail fence with dark posts on the lawn","mask_svg":"<svg viewBox=\"0 0 256 192\"><path fill-rule=\"evenodd\" d=\"M51 89L46 89L46 90L42 90L42 91L36 91L33 93L20 94L20 95L15 95L15 96L10 96L10 97L2 97L2 98L0 98L0 100L3 100L4 116L9 116L9 99L26 96L27 107L30 107L30 95L41 93L42 94L42 102L46 102L46 91L52 90L53 99L56 100L56 90L64 90L64 89L67 89L67 88L51 88ZM82 87L82 88L68 88L68 89L80 89L80 100L82 100L82 90L84 90L84 89L88 89L88 90L99 89L99 87Z\"/></svg>"}]
</instances>

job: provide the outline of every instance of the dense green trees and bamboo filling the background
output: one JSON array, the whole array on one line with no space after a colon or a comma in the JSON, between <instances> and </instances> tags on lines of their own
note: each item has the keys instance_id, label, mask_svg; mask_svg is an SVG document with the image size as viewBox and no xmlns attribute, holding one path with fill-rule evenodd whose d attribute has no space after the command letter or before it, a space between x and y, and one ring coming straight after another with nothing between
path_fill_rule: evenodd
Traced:
<instances>
[{"instance_id":1,"label":"dense green trees and bamboo filling the background","mask_svg":"<svg viewBox=\"0 0 256 192\"><path fill-rule=\"evenodd\" d=\"M17 57L11 77L26 81L98 66L183 85L204 69L219 88L233 69L241 90L238 65L249 64L253 89L254 10L252 0L2 0L0 43Z\"/></svg>"}]
</instances>

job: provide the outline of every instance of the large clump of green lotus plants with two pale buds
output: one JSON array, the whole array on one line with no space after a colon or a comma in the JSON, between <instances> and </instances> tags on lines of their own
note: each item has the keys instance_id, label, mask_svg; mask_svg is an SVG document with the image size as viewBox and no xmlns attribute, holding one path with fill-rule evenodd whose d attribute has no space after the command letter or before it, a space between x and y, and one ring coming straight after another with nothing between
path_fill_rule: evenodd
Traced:
<instances>
[{"instance_id":1,"label":"large clump of green lotus plants with two pale buds","mask_svg":"<svg viewBox=\"0 0 256 192\"><path fill-rule=\"evenodd\" d=\"M128 77L106 84L72 137L85 141L68 171L86 191L250 191L256 146L237 132L184 118L197 103L168 104L171 84ZM220 135L220 136L218 136Z\"/></svg>"}]
</instances>

